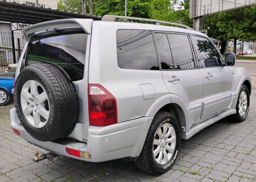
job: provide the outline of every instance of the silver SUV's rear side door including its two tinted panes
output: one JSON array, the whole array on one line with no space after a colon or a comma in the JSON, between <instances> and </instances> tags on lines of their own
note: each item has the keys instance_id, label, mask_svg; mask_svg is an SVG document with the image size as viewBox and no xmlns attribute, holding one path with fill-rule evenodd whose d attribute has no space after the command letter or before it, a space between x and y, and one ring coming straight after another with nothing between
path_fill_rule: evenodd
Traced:
<instances>
[{"instance_id":1,"label":"silver SUV's rear side door including its two tinted panes","mask_svg":"<svg viewBox=\"0 0 256 182\"><path fill-rule=\"evenodd\" d=\"M156 47L161 62L164 83L172 102L182 100L188 112L190 126L202 112L203 78L195 68L191 43L187 34L155 32Z\"/></svg>"}]
</instances>

